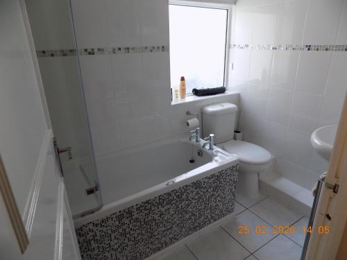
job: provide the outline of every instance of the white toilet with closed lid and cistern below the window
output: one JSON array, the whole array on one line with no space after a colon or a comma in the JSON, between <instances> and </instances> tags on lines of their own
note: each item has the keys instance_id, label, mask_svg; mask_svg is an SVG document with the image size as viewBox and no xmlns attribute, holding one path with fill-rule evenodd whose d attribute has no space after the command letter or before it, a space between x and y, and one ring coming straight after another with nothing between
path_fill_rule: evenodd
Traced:
<instances>
[{"instance_id":1,"label":"white toilet with closed lid and cistern below the window","mask_svg":"<svg viewBox=\"0 0 347 260\"><path fill-rule=\"evenodd\" d=\"M257 198L259 196L258 175L269 170L272 155L260 146L232 139L236 112L237 106L231 103L203 107L203 137L214 134L216 146L239 158L237 193L248 198Z\"/></svg>"}]
</instances>

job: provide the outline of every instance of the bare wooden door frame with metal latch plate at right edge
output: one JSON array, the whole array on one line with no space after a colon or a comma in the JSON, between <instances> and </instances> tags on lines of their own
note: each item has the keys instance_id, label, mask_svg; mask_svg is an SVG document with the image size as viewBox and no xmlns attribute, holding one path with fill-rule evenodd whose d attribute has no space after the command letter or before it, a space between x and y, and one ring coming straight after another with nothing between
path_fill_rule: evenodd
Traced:
<instances>
[{"instance_id":1,"label":"bare wooden door frame with metal latch plate at right edge","mask_svg":"<svg viewBox=\"0 0 347 260\"><path fill-rule=\"evenodd\" d=\"M323 182L306 260L335 259L347 221L347 94ZM346 256L347 258L347 256Z\"/></svg>"}]
</instances>

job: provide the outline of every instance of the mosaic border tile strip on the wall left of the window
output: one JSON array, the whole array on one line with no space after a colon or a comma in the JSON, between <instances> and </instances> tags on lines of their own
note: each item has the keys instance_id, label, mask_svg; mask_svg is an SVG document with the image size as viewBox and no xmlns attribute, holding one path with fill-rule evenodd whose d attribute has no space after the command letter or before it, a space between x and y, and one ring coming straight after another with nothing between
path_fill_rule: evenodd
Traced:
<instances>
[{"instance_id":1,"label":"mosaic border tile strip on the wall left of the window","mask_svg":"<svg viewBox=\"0 0 347 260\"><path fill-rule=\"evenodd\" d=\"M126 53L154 53L169 52L169 46L133 46L133 47L111 47L111 48L83 48L79 49L80 55L105 55L105 54L126 54ZM37 57L63 57L74 56L76 49L64 50L43 50L36 51Z\"/></svg>"}]
</instances>

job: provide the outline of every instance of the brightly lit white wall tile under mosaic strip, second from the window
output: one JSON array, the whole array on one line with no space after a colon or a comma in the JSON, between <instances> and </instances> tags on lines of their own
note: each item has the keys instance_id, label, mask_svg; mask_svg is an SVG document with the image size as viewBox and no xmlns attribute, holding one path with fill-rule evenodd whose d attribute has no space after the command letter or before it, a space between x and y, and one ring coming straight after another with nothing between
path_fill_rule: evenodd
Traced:
<instances>
[{"instance_id":1,"label":"brightly lit white wall tile under mosaic strip, second from the window","mask_svg":"<svg viewBox=\"0 0 347 260\"><path fill-rule=\"evenodd\" d=\"M248 82L269 85L273 51L252 50Z\"/></svg>"}]
</instances>

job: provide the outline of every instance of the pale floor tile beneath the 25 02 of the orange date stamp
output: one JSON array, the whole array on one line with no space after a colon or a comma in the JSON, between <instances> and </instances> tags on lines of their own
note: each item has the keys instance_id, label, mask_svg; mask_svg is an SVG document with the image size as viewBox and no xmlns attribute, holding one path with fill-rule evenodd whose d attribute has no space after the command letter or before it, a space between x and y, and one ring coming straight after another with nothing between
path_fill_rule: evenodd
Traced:
<instances>
[{"instance_id":1,"label":"pale floor tile beneath the 25 02 of the orange date stamp","mask_svg":"<svg viewBox=\"0 0 347 260\"><path fill-rule=\"evenodd\" d=\"M248 234L239 234L239 226L248 226L249 233ZM257 229L260 232L264 230L264 234L256 233L255 227L265 227L264 229ZM262 245L265 245L269 242L273 237L277 234L272 233L272 227L265 223L264 220L255 216L251 211L246 210L234 218L230 218L230 220L221 225L223 229L226 230L234 239L239 241L244 247L250 252L255 252L255 250L259 249ZM258 232L259 232L258 231Z\"/></svg>"}]
</instances>

